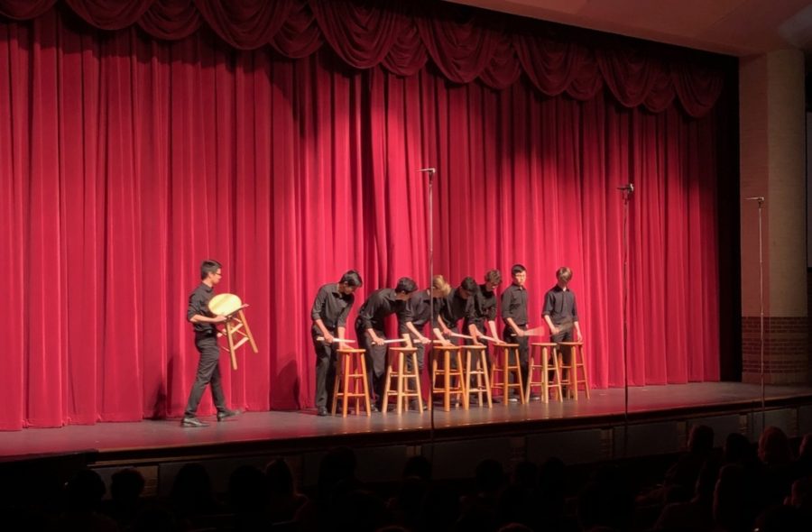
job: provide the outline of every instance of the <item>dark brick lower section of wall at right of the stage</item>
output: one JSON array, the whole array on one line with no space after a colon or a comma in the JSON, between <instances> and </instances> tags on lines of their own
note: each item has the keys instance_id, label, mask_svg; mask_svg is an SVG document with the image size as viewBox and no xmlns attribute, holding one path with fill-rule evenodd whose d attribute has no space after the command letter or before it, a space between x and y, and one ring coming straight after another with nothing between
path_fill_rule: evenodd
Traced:
<instances>
[{"instance_id":1,"label":"dark brick lower section of wall at right of the stage","mask_svg":"<svg viewBox=\"0 0 812 532\"><path fill-rule=\"evenodd\" d=\"M742 381L758 382L761 366L759 316L742 317ZM764 381L807 382L809 318L764 316Z\"/></svg>"}]
</instances>

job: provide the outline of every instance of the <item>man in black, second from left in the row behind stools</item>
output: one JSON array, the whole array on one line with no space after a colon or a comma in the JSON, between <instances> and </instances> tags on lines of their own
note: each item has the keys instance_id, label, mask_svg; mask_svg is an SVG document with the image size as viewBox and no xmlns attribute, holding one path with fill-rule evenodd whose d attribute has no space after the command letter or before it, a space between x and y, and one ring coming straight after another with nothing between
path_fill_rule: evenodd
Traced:
<instances>
[{"instance_id":1,"label":"man in black, second from left in the row behind stools","mask_svg":"<svg viewBox=\"0 0 812 532\"><path fill-rule=\"evenodd\" d=\"M383 333L385 319L398 310L399 301L406 301L417 285L408 277L401 277L394 289L378 289L366 298L355 318L355 334L366 350L366 371L369 375L370 393L374 391L374 412L379 411L383 400L383 377L386 371L386 335Z\"/></svg>"}]
</instances>

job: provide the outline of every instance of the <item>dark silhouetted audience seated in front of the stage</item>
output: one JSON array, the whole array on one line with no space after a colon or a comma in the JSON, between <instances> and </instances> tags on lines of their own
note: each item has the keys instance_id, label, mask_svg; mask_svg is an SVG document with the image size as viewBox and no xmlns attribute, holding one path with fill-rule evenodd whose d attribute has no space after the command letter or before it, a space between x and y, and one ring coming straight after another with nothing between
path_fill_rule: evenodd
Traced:
<instances>
[{"instance_id":1,"label":"dark silhouetted audience seated in front of the stage","mask_svg":"<svg viewBox=\"0 0 812 532\"><path fill-rule=\"evenodd\" d=\"M719 449L713 430L696 426L684 454L612 463L551 458L505 470L482 457L457 480L432 478L430 460L414 456L399 482L363 482L355 453L337 448L321 461L316 485L297 486L277 458L264 469L236 467L227 490L216 492L206 467L187 463L165 498L144 496L136 469L115 472L109 486L92 469L63 485L12 470L3 469L3 530L812 530L812 435L791 441L777 427L757 444L728 435Z\"/></svg>"}]
</instances>

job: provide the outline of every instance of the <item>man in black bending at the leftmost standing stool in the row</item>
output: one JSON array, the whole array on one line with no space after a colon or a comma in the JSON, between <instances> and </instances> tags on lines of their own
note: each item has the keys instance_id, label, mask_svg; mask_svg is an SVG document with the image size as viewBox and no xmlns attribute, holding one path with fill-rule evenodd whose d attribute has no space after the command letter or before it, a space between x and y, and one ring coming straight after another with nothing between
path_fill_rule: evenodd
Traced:
<instances>
[{"instance_id":1,"label":"man in black bending at the leftmost standing stool in the row","mask_svg":"<svg viewBox=\"0 0 812 532\"><path fill-rule=\"evenodd\" d=\"M313 326L310 334L316 348L316 408L318 416L328 415L336 381L337 338L344 338L346 316L355 303L355 289L364 283L355 270L347 271L337 283L331 282L320 289L310 310ZM320 338L320 340L318 339Z\"/></svg>"}]
</instances>

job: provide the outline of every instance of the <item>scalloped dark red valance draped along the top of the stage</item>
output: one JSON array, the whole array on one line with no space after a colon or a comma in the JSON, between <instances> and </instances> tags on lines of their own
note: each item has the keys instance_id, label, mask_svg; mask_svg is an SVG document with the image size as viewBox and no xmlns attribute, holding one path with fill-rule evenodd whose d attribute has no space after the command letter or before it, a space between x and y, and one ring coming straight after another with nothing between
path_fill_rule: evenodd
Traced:
<instances>
[{"instance_id":1,"label":"scalloped dark red valance draped along the top of the stage","mask_svg":"<svg viewBox=\"0 0 812 532\"><path fill-rule=\"evenodd\" d=\"M65 0L102 29L137 23L153 37L179 40L201 20L231 46L271 44L289 58L314 53L327 41L358 69L383 65L411 76L428 56L449 80L479 80L503 90L521 73L547 96L567 92L586 100L604 84L626 106L662 112L676 96L687 114L706 115L723 86L722 69L706 54L641 45L602 35L448 3L396 0ZM42 15L54 4L0 0L0 14ZM505 28L515 28L506 32ZM668 57L669 60L664 59ZM697 59L702 57L703 59Z\"/></svg>"}]
</instances>

